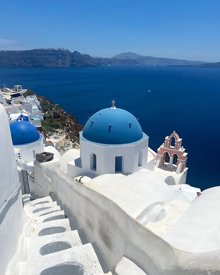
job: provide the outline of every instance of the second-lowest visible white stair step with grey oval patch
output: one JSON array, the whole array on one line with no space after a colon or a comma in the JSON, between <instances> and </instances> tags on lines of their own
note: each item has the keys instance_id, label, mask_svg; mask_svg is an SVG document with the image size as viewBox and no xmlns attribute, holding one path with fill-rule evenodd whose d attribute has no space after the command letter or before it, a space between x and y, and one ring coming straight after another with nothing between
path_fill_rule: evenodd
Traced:
<instances>
[{"instance_id":1,"label":"second-lowest visible white stair step with grey oval patch","mask_svg":"<svg viewBox=\"0 0 220 275\"><path fill-rule=\"evenodd\" d=\"M51 251L56 251L57 248L65 249L65 247L70 248L79 245L82 245L82 242L77 230L41 237L26 237L24 238L24 251L26 254L23 259L34 260L36 257L41 257L41 255L45 254L46 251L50 251L50 249Z\"/></svg>"}]
</instances>

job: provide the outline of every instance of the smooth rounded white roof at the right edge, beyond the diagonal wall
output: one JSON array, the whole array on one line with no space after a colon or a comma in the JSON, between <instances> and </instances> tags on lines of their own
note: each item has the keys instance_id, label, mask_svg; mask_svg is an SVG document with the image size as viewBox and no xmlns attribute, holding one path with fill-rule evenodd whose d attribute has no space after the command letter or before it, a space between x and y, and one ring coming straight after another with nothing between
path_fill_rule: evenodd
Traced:
<instances>
[{"instance_id":1,"label":"smooth rounded white roof at the right edge, beyond the diagonal wall","mask_svg":"<svg viewBox=\"0 0 220 275\"><path fill-rule=\"evenodd\" d=\"M185 251L220 250L219 194L220 186L202 191L202 195L191 201L187 211L163 238L174 247Z\"/></svg>"}]
</instances>

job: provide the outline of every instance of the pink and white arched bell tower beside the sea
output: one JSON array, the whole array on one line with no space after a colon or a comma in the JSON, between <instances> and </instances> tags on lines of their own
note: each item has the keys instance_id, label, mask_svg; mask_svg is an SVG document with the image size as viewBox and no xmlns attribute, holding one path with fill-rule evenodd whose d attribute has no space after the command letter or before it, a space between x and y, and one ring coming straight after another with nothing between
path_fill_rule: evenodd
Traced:
<instances>
[{"instance_id":1,"label":"pink and white arched bell tower beside the sea","mask_svg":"<svg viewBox=\"0 0 220 275\"><path fill-rule=\"evenodd\" d=\"M174 145L171 145L172 138L175 139ZM173 131L169 137L165 137L165 142L158 148L155 166L162 169L162 166L172 167L176 169L176 174L180 174L186 169L187 155L182 146L182 138Z\"/></svg>"}]
</instances>

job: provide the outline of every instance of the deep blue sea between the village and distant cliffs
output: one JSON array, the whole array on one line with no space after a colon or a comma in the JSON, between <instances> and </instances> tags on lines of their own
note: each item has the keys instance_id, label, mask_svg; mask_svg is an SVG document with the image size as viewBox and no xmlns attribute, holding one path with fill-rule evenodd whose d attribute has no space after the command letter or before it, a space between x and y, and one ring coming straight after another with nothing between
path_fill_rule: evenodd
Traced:
<instances>
[{"instance_id":1,"label":"deep blue sea between the village and distant cliffs","mask_svg":"<svg viewBox=\"0 0 220 275\"><path fill-rule=\"evenodd\" d=\"M116 107L140 119L153 150L174 130L179 134L188 152L187 184L201 190L220 185L220 69L0 67L3 84L31 89L83 125L114 99Z\"/></svg>"}]
</instances>

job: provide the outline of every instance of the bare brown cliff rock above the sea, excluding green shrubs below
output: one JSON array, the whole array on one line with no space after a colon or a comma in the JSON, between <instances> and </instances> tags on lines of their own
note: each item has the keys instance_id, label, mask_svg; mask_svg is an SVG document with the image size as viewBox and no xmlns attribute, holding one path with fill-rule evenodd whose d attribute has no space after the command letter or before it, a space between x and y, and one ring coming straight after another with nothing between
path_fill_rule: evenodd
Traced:
<instances>
[{"instance_id":1,"label":"bare brown cliff rock above the sea, excluding green shrubs below","mask_svg":"<svg viewBox=\"0 0 220 275\"><path fill-rule=\"evenodd\" d=\"M62 124L61 129L57 129L56 132L60 134L65 134L74 137L79 143L79 131L83 130L83 126L77 122L75 116L68 114L59 105L54 105L52 101L44 98L43 96L37 96L40 106L42 106L43 111L48 111L52 114L54 120Z\"/></svg>"}]
</instances>

